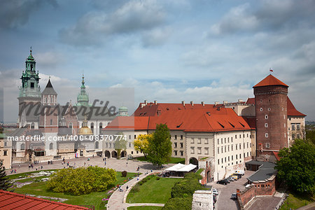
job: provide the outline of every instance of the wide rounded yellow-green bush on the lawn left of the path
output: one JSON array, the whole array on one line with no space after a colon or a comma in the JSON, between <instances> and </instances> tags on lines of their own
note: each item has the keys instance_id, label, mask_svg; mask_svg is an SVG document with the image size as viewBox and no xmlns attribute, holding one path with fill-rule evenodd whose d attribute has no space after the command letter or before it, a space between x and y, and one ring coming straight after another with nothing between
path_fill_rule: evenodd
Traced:
<instances>
[{"instance_id":1,"label":"wide rounded yellow-green bush on the lawn left of the path","mask_svg":"<svg viewBox=\"0 0 315 210\"><path fill-rule=\"evenodd\" d=\"M83 195L104 191L115 181L117 181L116 172L113 169L97 166L79 167L77 169L61 169L52 174L46 186L57 193Z\"/></svg>"}]
</instances>

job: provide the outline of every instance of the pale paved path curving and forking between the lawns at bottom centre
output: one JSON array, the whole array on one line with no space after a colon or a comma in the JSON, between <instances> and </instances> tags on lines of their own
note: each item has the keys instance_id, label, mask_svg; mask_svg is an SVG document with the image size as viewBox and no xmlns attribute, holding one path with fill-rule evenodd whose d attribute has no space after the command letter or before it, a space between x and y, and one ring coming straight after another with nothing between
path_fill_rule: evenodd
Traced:
<instances>
[{"instance_id":1,"label":"pale paved path curving and forking between the lawns at bottom centre","mask_svg":"<svg viewBox=\"0 0 315 210\"><path fill-rule=\"evenodd\" d=\"M158 172L158 171L155 171ZM142 179L144 179L146 176L154 174L141 174L138 178L134 178L127 183L125 183L121 188L123 189L123 192L120 192L119 190L116 190L111 197L109 198L109 203L107 204L107 209L110 210L121 210L121 209L127 209L127 207L141 207L141 206L155 206L155 207L164 207L164 204L151 204L151 203L137 203L137 204L130 204L126 203L127 195L130 192L130 190ZM129 187L128 190L127 186Z\"/></svg>"}]
</instances>

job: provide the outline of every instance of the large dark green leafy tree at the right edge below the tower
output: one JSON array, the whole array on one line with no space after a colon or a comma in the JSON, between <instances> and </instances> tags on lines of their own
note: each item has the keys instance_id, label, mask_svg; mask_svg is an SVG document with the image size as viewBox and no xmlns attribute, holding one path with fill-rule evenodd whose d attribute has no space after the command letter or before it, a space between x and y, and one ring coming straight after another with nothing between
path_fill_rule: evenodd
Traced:
<instances>
[{"instance_id":1,"label":"large dark green leafy tree at the right edge below the tower","mask_svg":"<svg viewBox=\"0 0 315 210\"><path fill-rule=\"evenodd\" d=\"M279 151L281 158L276 162L280 179L298 193L314 193L315 146L303 139L295 139L290 148Z\"/></svg>"}]
</instances>

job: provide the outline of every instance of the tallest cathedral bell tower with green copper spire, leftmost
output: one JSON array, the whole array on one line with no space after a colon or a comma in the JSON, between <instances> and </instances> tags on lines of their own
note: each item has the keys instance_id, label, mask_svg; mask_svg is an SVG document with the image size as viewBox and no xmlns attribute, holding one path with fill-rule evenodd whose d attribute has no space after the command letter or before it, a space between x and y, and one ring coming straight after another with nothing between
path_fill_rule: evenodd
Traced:
<instances>
[{"instance_id":1,"label":"tallest cathedral bell tower with green copper spire, leftmost","mask_svg":"<svg viewBox=\"0 0 315 210\"><path fill-rule=\"evenodd\" d=\"M19 93L19 127L25 125L38 125L38 118L33 115L36 109L33 105L40 106L41 104L41 87L39 87L38 71L36 72L36 61L31 55L32 50L29 50L29 57L25 61L25 71L22 71L22 85ZM31 109L31 110L30 110Z\"/></svg>"}]
</instances>

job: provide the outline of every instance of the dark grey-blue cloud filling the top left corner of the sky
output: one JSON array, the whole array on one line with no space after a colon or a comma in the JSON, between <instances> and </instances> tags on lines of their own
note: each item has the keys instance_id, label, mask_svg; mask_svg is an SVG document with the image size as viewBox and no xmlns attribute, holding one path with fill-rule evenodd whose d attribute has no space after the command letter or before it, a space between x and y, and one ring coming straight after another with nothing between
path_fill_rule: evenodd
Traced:
<instances>
[{"instance_id":1,"label":"dark grey-blue cloud filling the top left corner of the sky","mask_svg":"<svg viewBox=\"0 0 315 210\"><path fill-rule=\"evenodd\" d=\"M57 1L55 0L1 1L0 28L11 29L25 25L31 13L38 10L45 2L57 7Z\"/></svg>"}]
</instances>

